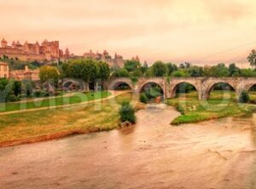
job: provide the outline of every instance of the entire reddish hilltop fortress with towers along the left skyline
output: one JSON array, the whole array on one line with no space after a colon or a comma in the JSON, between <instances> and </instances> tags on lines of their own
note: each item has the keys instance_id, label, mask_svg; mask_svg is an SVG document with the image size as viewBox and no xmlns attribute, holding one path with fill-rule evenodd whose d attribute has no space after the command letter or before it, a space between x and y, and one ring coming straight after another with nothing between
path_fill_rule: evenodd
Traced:
<instances>
[{"instance_id":1,"label":"entire reddish hilltop fortress with towers along the left skyline","mask_svg":"<svg viewBox=\"0 0 256 189\"><path fill-rule=\"evenodd\" d=\"M21 44L19 41L9 43L3 38L1 41L0 47L0 59L14 59L21 61L38 61L38 62L57 62L59 60L74 60L74 59L94 59L107 62L110 67L124 67L125 60L122 55L114 54L112 57L108 54L107 50L104 50L102 54L96 52L93 53L92 50L88 53L84 53L83 55L74 55L70 54L69 50L66 49L63 52L60 49L59 41L49 42L46 39L43 43L28 43L25 42ZM138 56L132 57L131 60L140 61Z\"/></svg>"}]
</instances>

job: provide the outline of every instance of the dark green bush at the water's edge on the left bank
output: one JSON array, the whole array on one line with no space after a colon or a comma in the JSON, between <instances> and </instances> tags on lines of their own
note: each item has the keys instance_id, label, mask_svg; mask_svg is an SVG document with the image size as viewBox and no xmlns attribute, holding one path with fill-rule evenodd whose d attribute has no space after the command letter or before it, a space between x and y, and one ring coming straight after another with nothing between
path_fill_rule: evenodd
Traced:
<instances>
[{"instance_id":1,"label":"dark green bush at the water's edge on the left bank","mask_svg":"<svg viewBox=\"0 0 256 189\"><path fill-rule=\"evenodd\" d=\"M136 123L134 109L128 101L122 103L121 108L119 109L119 115L121 122Z\"/></svg>"}]
</instances>

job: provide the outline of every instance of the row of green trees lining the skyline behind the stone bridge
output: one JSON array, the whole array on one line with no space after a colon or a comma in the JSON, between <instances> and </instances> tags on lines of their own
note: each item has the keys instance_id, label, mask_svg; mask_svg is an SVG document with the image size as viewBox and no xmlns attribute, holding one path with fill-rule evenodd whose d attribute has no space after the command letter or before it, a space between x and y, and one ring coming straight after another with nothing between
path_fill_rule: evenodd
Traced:
<instances>
[{"instance_id":1,"label":"row of green trees lining the skyline behind the stone bridge","mask_svg":"<svg viewBox=\"0 0 256 189\"><path fill-rule=\"evenodd\" d=\"M131 67L131 65L133 65ZM113 72L114 77L256 77L253 68L239 68L235 63L226 66L193 66L188 62L177 66L172 63L156 61L150 67L139 62L127 61L123 69Z\"/></svg>"}]
</instances>

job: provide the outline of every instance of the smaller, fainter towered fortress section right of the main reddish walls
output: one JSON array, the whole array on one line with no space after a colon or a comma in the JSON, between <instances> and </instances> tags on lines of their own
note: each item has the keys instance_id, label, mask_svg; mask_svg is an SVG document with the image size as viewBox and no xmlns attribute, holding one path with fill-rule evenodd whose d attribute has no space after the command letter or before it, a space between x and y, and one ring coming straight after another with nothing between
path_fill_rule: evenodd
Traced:
<instances>
[{"instance_id":1,"label":"smaller, fainter towered fortress section right of the main reddish walls","mask_svg":"<svg viewBox=\"0 0 256 189\"><path fill-rule=\"evenodd\" d=\"M102 54L99 54L98 52L93 53L92 50L90 50L89 53L84 53L84 58L105 61L110 67L123 67L125 64L123 56L114 54L114 57L112 58L107 50L104 50Z\"/></svg>"}]
</instances>

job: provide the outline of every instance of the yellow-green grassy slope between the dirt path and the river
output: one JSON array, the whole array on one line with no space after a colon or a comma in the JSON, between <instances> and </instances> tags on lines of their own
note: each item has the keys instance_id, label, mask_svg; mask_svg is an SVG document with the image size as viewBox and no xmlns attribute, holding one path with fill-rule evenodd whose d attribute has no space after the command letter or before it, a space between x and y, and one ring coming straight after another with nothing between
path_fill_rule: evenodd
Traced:
<instances>
[{"instance_id":1,"label":"yellow-green grassy slope between the dirt path and the river","mask_svg":"<svg viewBox=\"0 0 256 189\"><path fill-rule=\"evenodd\" d=\"M135 100L127 93L120 94L114 100L87 105L1 116L0 146L116 129L119 127L119 105L124 100L130 100L135 105ZM143 105L137 104L136 108L143 108Z\"/></svg>"}]
</instances>

